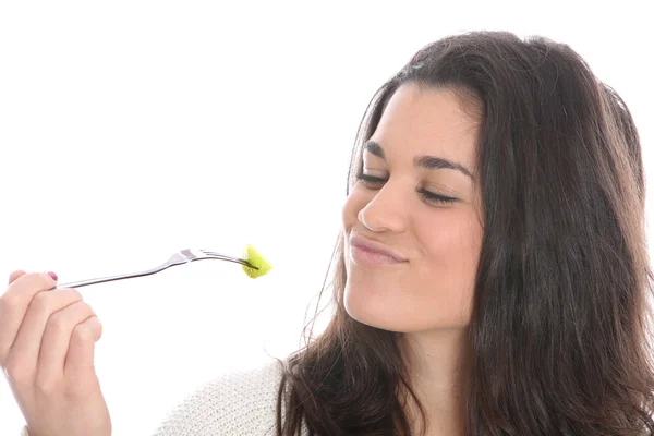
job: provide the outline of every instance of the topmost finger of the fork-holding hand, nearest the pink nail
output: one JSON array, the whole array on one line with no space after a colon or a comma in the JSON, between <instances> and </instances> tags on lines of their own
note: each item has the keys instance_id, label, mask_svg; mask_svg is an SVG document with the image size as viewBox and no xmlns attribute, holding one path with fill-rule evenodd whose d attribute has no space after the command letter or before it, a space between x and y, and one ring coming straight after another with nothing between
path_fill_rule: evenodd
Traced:
<instances>
[{"instance_id":1,"label":"topmost finger of the fork-holding hand, nearest the pink nail","mask_svg":"<svg viewBox=\"0 0 654 436\"><path fill-rule=\"evenodd\" d=\"M0 366L7 364L9 350L16 340L20 327L34 296L57 286L47 274L14 271L14 279L0 298Z\"/></svg>"}]
</instances>

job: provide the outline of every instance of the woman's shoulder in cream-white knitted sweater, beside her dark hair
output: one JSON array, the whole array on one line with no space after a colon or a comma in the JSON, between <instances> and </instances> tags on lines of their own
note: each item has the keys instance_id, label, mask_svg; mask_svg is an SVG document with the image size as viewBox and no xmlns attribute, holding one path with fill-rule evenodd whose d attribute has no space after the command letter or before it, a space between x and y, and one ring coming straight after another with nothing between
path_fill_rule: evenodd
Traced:
<instances>
[{"instance_id":1,"label":"woman's shoulder in cream-white knitted sweater, beside her dark hair","mask_svg":"<svg viewBox=\"0 0 654 436\"><path fill-rule=\"evenodd\" d=\"M155 436L272 435L280 362L216 377L170 411Z\"/></svg>"}]
</instances>

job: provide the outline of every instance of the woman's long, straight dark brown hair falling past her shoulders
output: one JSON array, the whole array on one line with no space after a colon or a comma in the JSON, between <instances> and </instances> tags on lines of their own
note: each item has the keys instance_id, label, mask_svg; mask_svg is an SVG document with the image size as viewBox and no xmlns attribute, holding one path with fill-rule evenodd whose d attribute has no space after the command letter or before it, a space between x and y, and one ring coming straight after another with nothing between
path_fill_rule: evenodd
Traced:
<instances>
[{"instance_id":1,"label":"woman's long, straight dark brown hair falling past her shoulders","mask_svg":"<svg viewBox=\"0 0 654 436\"><path fill-rule=\"evenodd\" d=\"M348 193L362 144L408 82L456 90L482 121L468 434L654 434L645 180L625 102L567 45L502 32L447 37L373 97ZM286 362L277 434L305 425L311 435L408 436L405 404L416 397L401 334L347 314L343 234L329 272L335 314Z\"/></svg>"}]
</instances>

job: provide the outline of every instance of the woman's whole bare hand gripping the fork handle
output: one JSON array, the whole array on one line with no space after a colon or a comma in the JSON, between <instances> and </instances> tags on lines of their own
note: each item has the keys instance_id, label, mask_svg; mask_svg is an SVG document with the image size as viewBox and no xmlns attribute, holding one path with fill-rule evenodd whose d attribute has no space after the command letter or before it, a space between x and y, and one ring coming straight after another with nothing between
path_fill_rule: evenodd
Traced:
<instances>
[{"instance_id":1,"label":"woman's whole bare hand gripping the fork handle","mask_svg":"<svg viewBox=\"0 0 654 436\"><path fill-rule=\"evenodd\" d=\"M102 326L77 291L53 290L53 277L11 274L0 298L0 367L29 436L109 436L94 368Z\"/></svg>"}]
</instances>

